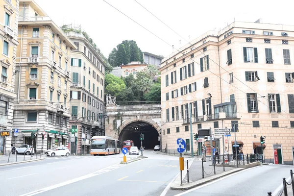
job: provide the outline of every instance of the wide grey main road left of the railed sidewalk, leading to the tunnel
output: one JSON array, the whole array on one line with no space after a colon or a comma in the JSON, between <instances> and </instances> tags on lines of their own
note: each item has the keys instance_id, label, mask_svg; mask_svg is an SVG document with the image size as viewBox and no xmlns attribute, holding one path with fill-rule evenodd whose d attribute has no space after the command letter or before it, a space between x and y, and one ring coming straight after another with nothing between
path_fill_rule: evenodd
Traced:
<instances>
[{"instance_id":1,"label":"wide grey main road left of the railed sidewalk, leading to the tunnel","mask_svg":"<svg viewBox=\"0 0 294 196\"><path fill-rule=\"evenodd\" d=\"M138 155L128 155L127 159ZM123 154L46 157L0 167L1 196L159 196L179 172L178 157L154 154L120 164Z\"/></svg>"}]
</instances>

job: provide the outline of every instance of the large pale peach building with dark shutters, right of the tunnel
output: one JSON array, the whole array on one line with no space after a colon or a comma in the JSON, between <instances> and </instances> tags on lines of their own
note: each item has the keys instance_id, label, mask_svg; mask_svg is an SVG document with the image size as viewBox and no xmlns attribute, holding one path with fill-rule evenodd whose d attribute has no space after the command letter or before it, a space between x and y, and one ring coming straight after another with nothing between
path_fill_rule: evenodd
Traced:
<instances>
[{"instance_id":1,"label":"large pale peach building with dark shutters, right of the tunnel","mask_svg":"<svg viewBox=\"0 0 294 196\"><path fill-rule=\"evenodd\" d=\"M294 159L294 26L234 22L208 31L163 59L162 148L176 149L176 139L187 151L210 142L191 141L192 130L212 129L213 146L235 153L231 137L215 129L238 127L237 151L262 154L268 161L293 164ZM209 137L208 137L209 139ZM192 144L191 144L192 143Z\"/></svg>"}]
</instances>

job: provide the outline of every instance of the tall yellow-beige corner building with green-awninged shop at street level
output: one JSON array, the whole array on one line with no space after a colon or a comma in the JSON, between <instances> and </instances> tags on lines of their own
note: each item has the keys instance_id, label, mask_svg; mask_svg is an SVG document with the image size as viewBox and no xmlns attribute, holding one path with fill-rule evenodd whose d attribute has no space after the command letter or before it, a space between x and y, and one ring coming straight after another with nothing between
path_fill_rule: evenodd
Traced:
<instances>
[{"instance_id":1,"label":"tall yellow-beige corner building with green-awninged shop at street level","mask_svg":"<svg viewBox=\"0 0 294 196\"><path fill-rule=\"evenodd\" d=\"M14 146L37 153L69 144L71 50L73 42L34 0L20 0ZM31 133L37 137L31 138Z\"/></svg>"}]
</instances>

